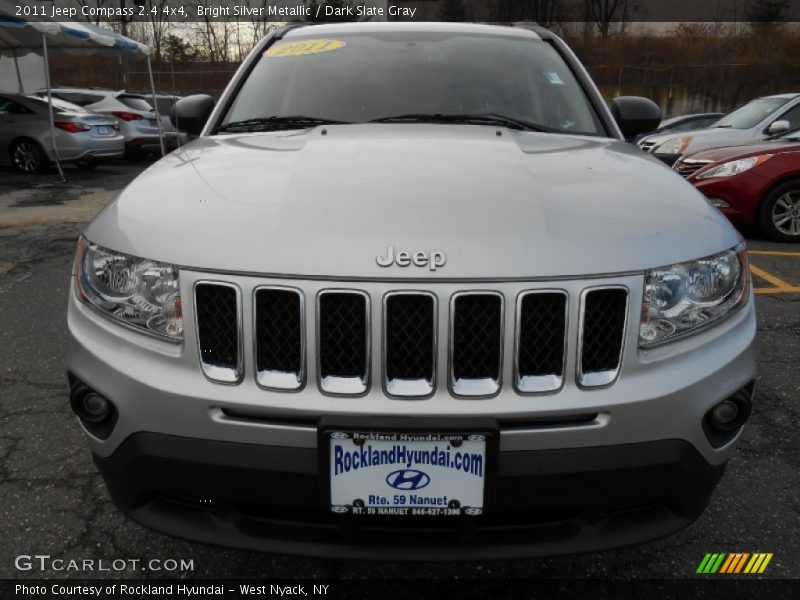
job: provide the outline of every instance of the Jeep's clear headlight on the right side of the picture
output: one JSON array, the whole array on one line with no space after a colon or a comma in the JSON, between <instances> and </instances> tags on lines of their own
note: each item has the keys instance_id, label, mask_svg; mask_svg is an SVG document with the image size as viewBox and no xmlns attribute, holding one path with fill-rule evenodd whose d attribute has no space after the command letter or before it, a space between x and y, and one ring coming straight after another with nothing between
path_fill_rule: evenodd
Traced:
<instances>
[{"instance_id":1,"label":"Jeep's clear headlight on the right side of the picture","mask_svg":"<svg viewBox=\"0 0 800 600\"><path fill-rule=\"evenodd\" d=\"M655 346L718 321L747 301L749 282L744 244L647 271L639 346Z\"/></svg>"}]
</instances>

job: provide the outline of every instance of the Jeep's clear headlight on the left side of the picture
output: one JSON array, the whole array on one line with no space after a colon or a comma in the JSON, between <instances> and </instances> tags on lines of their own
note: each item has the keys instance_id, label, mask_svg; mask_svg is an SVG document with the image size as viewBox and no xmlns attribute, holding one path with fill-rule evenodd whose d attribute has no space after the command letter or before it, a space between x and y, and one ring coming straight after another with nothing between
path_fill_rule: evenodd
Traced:
<instances>
[{"instance_id":1,"label":"Jeep's clear headlight on the left side of the picture","mask_svg":"<svg viewBox=\"0 0 800 600\"><path fill-rule=\"evenodd\" d=\"M140 331L183 339L181 292L174 265L114 252L81 238L75 293L104 314Z\"/></svg>"}]
</instances>

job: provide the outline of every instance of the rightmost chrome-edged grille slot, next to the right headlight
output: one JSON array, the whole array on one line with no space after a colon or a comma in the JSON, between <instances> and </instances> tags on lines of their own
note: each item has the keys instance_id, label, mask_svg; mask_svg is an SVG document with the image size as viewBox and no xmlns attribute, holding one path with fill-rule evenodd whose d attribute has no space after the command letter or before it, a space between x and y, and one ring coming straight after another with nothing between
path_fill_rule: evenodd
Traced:
<instances>
[{"instance_id":1,"label":"rightmost chrome-edged grille slot, next to the right headlight","mask_svg":"<svg viewBox=\"0 0 800 600\"><path fill-rule=\"evenodd\" d=\"M603 387L617 378L622 358L628 290L591 288L583 294L578 383Z\"/></svg>"}]
</instances>

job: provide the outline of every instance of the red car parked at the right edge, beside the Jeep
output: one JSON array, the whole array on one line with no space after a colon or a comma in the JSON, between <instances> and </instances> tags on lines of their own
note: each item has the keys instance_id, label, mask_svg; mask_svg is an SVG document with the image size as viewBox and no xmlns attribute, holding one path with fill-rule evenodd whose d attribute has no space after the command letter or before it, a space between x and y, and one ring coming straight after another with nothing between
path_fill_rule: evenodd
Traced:
<instances>
[{"instance_id":1,"label":"red car parked at the right edge, beside the Jeep","mask_svg":"<svg viewBox=\"0 0 800 600\"><path fill-rule=\"evenodd\" d=\"M673 167L734 223L800 242L800 130L746 146L701 150Z\"/></svg>"}]
</instances>

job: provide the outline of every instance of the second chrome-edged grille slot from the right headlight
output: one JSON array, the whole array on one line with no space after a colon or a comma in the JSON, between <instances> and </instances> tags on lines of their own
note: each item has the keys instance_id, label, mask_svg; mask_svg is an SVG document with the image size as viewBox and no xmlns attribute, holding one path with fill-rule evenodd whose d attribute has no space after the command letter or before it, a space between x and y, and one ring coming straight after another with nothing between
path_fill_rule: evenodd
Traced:
<instances>
[{"instance_id":1,"label":"second chrome-edged grille slot from the right headlight","mask_svg":"<svg viewBox=\"0 0 800 600\"><path fill-rule=\"evenodd\" d=\"M529 291L517 303L516 387L521 393L550 392L564 382L567 294Z\"/></svg>"}]
</instances>

